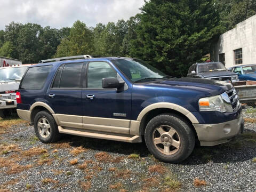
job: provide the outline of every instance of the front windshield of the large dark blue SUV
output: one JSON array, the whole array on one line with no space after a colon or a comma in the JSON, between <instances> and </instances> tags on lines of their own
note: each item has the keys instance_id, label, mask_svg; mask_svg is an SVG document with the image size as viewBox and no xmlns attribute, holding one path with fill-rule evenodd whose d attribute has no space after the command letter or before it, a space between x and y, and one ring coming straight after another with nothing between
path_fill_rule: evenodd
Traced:
<instances>
[{"instance_id":1,"label":"front windshield of the large dark blue SUV","mask_svg":"<svg viewBox=\"0 0 256 192\"><path fill-rule=\"evenodd\" d=\"M143 79L154 81L158 78L166 78L163 72L139 59L118 59L112 62L122 70L126 77L130 78L132 82L138 82Z\"/></svg>"}]
</instances>

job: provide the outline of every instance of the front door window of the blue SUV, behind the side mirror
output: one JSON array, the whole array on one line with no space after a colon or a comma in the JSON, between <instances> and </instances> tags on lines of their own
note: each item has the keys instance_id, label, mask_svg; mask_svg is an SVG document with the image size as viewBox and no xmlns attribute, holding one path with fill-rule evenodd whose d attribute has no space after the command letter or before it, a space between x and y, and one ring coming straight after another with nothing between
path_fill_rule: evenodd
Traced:
<instances>
[{"instance_id":1,"label":"front door window of the blue SUV, behind the side mirror","mask_svg":"<svg viewBox=\"0 0 256 192\"><path fill-rule=\"evenodd\" d=\"M102 88L102 78L116 77L116 71L106 62L90 62L88 68L89 88Z\"/></svg>"}]
</instances>

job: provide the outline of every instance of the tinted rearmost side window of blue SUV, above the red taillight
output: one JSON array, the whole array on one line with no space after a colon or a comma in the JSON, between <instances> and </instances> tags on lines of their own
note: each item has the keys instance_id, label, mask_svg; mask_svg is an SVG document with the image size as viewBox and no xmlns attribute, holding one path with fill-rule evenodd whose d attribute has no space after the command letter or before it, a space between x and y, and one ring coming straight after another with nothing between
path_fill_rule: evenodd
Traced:
<instances>
[{"instance_id":1,"label":"tinted rearmost side window of blue SUV, above the red taillight","mask_svg":"<svg viewBox=\"0 0 256 192\"><path fill-rule=\"evenodd\" d=\"M51 68L51 65L29 68L20 84L20 89L42 89Z\"/></svg>"}]
</instances>

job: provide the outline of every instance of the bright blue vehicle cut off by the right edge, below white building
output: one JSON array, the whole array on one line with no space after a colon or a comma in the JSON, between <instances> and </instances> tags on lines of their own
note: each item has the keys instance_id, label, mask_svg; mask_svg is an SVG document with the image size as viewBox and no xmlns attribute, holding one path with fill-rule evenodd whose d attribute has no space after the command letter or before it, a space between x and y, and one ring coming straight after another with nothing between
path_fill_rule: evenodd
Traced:
<instances>
[{"instance_id":1,"label":"bright blue vehicle cut off by the right edge, below white building","mask_svg":"<svg viewBox=\"0 0 256 192\"><path fill-rule=\"evenodd\" d=\"M256 81L256 64L231 67L238 74L239 81Z\"/></svg>"}]
</instances>

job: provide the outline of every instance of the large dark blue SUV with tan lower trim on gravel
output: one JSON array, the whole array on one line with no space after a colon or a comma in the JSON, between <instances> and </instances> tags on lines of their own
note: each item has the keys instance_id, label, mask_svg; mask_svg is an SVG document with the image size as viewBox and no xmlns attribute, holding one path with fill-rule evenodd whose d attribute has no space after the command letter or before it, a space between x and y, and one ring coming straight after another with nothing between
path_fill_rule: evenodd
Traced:
<instances>
[{"instance_id":1,"label":"large dark blue SUV with tan lower trim on gravel","mask_svg":"<svg viewBox=\"0 0 256 192\"><path fill-rule=\"evenodd\" d=\"M125 142L142 142L144 135L156 158L177 163L197 140L218 145L244 127L230 83L169 78L132 58L41 63L29 67L16 96L18 115L44 143L60 133Z\"/></svg>"}]
</instances>

